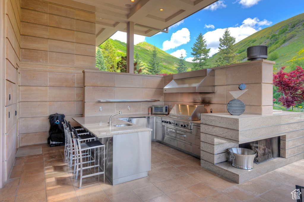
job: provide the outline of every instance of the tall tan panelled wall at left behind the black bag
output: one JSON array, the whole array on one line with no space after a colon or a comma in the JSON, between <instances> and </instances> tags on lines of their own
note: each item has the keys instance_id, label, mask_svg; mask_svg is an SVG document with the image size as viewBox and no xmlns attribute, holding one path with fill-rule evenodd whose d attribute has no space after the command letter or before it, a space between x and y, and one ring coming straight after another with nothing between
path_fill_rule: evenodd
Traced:
<instances>
[{"instance_id":1,"label":"tall tan panelled wall at left behind the black bag","mask_svg":"<svg viewBox=\"0 0 304 202\"><path fill-rule=\"evenodd\" d=\"M21 34L23 146L47 142L50 114L63 113L68 120L82 116L82 70L96 68L95 14L42 0L22 0Z\"/></svg>"}]
</instances>

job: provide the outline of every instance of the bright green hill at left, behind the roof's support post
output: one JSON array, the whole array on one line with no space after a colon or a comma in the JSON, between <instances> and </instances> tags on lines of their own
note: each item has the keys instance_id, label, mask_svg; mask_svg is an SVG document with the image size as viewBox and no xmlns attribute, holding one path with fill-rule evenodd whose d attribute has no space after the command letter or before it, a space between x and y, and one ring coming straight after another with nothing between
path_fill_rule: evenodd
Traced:
<instances>
[{"instance_id":1,"label":"bright green hill at left, behind the roof's support post","mask_svg":"<svg viewBox=\"0 0 304 202\"><path fill-rule=\"evenodd\" d=\"M109 42L112 43L114 48L117 51L118 57L120 56L126 56L127 54L127 44L124 42L121 42L119 40L113 40L113 39L108 39ZM100 45L102 46L102 45ZM138 52L139 57L142 61L142 63L147 66L149 60L150 60L150 53L153 50L153 45L147 43L147 42L140 42L136 45L134 45L134 53ZM171 56L169 53L164 52L163 50L156 48L157 49L157 55L160 59L160 65L162 67L161 73L166 73L166 74L174 74L177 73L177 70L175 69L178 66L178 61L179 58L176 58L174 56ZM190 68L193 67L192 62L187 62L186 65L188 66L189 70ZM143 70L143 72L146 72Z\"/></svg>"}]
</instances>

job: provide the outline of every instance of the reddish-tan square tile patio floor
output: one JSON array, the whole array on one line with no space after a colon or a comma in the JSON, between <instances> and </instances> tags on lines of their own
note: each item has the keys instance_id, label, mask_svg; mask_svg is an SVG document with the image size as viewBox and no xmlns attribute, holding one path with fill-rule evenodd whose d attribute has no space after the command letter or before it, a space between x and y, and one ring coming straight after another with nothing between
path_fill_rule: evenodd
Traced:
<instances>
[{"instance_id":1,"label":"reddish-tan square tile patio floor","mask_svg":"<svg viewBox=\"0 0 304 202\"><path fill-rule=\"evenodd\" d=\"M304 186L304 160L242 184L200 167L200 160L152 142L148 177L112 186L103 176L74 179L64 146L42 145L40 155L18 157L0 201L293 201L295 184ZM91 171L86 171L91 172Z\"/></svg>"}]
</instances>

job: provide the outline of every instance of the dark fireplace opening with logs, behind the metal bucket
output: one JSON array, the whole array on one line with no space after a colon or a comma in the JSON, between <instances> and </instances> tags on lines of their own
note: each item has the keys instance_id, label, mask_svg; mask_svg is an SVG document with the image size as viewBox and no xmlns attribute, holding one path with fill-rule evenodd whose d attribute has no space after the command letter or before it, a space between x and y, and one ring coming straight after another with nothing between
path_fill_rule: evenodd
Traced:
<instances>
[{"instance_id":1,"label":"dark fireplace opening with logs, behind the metal bucket","mask_svg":"<svg viewBox=\"0 0 304 202\"><path fill-rule=\"evenodd\" d=\"M239 144L239 147L256 151L254 163L263 163L280 157L280 136Z\"/></svg>"}]
</instances>

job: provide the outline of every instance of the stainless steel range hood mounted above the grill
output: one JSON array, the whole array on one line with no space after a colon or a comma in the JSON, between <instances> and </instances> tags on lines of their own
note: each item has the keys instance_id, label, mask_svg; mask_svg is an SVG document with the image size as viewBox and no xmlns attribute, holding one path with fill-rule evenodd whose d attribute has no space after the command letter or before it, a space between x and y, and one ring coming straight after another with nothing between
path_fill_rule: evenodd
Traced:
<instances>
[{"instance_id":1,"label":"stainless steel range hood mounted above the grill","mask_svg":"<svg viewBox=\"0 0 304 202\"><path fill-rule=\"evenodd\" d=\"M174 74L164 93L214 93L214 69Z\"/></svg>"}]
</instances>

